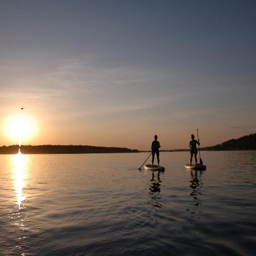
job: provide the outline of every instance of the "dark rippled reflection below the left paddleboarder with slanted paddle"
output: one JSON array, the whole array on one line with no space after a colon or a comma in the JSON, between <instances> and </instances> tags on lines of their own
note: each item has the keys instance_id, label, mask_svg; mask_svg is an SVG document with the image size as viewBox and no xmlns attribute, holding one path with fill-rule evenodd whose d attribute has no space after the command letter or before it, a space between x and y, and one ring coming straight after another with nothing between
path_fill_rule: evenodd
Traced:
<instances>
[{"instance_id":1,"label":"dark rippled reflection below the left paddleboarder with slanted paddle","mask_svg":"<svg viewBox=\"0 0 256 256\"><path fill-rule=\"evenodd\" d=\"M152 177L151 177L151 185L149 187L150 192L148 192L151 195L151 202L148 202L152 205L152 207L155 208L155 210L159 210L159 208L162 208L163 205L159 203L159 200L162 199L162 196L160 196L161 192L161 183L162 180L160 179L160 171L154 172L152 171Z\"/></svg>"}]
</instances>

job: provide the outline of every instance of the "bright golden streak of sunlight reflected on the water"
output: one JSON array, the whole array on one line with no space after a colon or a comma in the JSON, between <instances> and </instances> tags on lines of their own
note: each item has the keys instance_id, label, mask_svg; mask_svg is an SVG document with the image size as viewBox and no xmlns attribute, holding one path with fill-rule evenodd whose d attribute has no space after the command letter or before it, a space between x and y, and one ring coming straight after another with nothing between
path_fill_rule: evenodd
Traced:
<instances>
[{"instance_id":1,"label":"bright golden streak of sunlight reflected on the water","mask_svg":"<svg viewBox=\"0 0 256 256\"><path fill-rule=\"evenodd\" d=\"M24 164L25 159L24 155L21 154L19 151L18 154L15 155L15 173L14 173L14 179L15 179L15 191L16 191L16 198L17 198L17 205L20 209L22 207L22 201L26 199L25 196L23 196L23 187L24 187Z\"/></svg>"}]
</instances>

